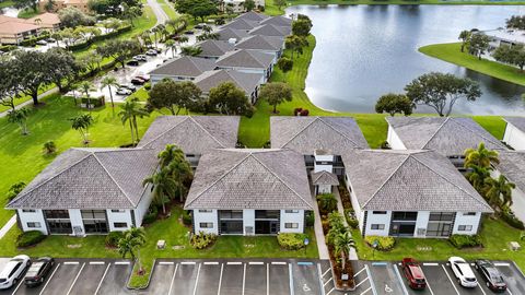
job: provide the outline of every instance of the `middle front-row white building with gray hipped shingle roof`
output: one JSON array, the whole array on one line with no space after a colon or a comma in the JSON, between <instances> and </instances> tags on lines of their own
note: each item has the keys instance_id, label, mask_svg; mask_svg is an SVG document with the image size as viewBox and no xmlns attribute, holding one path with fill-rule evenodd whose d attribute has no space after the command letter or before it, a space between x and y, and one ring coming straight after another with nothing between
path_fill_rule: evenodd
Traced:
<instances>
[{"instance_id":1,"label":"middle front-row white building with gray hipped shingle roof","mask_svg":"<svg viewBox=\"0 0 525 295\"><path fill-rule=\"evenodd\" d=\"M194 232L303 233L314 201L302 155L290 150L226 149L202 155L185 210Z\"/></svg>"}]
</instances>

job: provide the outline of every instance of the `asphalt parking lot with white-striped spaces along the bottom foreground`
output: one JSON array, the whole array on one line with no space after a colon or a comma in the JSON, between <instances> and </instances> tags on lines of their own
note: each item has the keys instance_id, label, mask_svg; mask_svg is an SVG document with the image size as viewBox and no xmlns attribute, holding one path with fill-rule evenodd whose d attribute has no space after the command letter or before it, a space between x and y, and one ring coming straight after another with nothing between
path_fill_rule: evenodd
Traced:
<instances>
[{"instance_id":1,"label":"asphalt parking lot with white-striped spaces along the bottom foreground","mask_svg":"<svg viewBox=\"0 0 525 295\"><path fill-rule=\"evenodd\" d=\"M0 269L9 259L0 258ZM509 291L504 294L525 294L525 276L512 262L494 261L504 275ZM338 292L334 287L330 263L327 260L293 259L160 259L155 261L147 290L126 287L132 270L127 260L57 259L50 275L38 287L23 282L3 294L166 294L166 295L488 295L493 294L478 275L476 288L458 285L446 262L422 262L428 287L412 291L402 275L400 263L352 261L357 288Z\"/></svg>"}]
</instances>

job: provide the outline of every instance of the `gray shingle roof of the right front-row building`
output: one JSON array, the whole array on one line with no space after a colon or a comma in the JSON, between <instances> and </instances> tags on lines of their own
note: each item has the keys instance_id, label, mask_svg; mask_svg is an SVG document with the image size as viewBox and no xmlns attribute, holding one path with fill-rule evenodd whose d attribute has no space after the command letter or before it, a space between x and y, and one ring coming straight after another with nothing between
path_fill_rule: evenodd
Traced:
<instances>
[{"instance_id":1,"label":"gray shingle roof of the right front-row building","mask_svg":"<svg viewBox=\"0 0 525 295\"><path fill-rule=\"evenodd\" d=\"M364 210L492 212L456 167L433 151L349 150L342 161Z\"/></svg>"}]
</instances>

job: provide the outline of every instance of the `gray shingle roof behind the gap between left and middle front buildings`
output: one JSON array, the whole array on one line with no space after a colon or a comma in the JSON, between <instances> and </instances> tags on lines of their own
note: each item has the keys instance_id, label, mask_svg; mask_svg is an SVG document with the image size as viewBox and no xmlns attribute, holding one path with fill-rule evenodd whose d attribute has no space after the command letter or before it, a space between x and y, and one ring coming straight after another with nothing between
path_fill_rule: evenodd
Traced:
<instances>
[{"instance_id":1,"label":"gray shingle roof behind the gap between left and middle front buildings","mask_svg":"<svg viewBox=\"0 0 525 295\"><path fill-rule=\"evenodd\" d=\"M150 126L139 148L162 151L178 145L186 154L203 154L211 149L235 148L236 116L161 116Z\"/></svg>"}]
</instances>

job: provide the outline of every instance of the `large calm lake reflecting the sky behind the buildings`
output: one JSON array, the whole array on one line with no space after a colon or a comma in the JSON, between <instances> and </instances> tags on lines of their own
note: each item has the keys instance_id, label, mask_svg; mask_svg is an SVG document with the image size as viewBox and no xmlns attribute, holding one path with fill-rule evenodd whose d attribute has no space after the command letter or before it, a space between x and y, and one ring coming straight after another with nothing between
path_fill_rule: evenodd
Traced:
<instances>
[{"instance_id":1,"label":"large calm lake reflecting the sky behind the buildings","mask_svg":"<svg viewBox=\"0 0 525 295\"><path fill-rule=\"evenodd\" d=\"M504 26L524 7L511 5L299 5L287 14L312 19L317 39L306 78L306 94L325 109L373 113L377 98L399 93L431 71L467 76L483 95L458 102L455 114L523 115L525 87L490 78L418 51L424 45L458 42L463 30ZM419 107L417 111L433 113Z\"/></svg>"}]
</instances>

